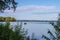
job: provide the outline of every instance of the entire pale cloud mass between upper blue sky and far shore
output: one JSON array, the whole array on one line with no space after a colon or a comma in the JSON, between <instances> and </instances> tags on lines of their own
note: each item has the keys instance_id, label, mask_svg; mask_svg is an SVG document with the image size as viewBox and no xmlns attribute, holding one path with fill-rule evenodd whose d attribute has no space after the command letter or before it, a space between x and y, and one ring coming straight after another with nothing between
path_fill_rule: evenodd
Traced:
<instances>
[{"instance_id":1,"label":"entire pale cloud mass between upper blue sky and far shore","mask_svg":"<svg viewBox=\"0 0 60 40\"><path fill-rule=\"evenodd\" d=\"M4 14L8 16L16 17L19 20L56 20L57 14L49 13L49 11L54 11L56 6L38 6L38 5L27 5L27 6L20 6L17 7L15 13L13 9L5 10L5 12L12 13L12 14ZM52 11L52 12L53 12ZM56 10L55 10L56 11ZM54 11L54 12L55 12ZM57 10L58 11L58 10ZM43 12L42 14L40 14ZM48 14L45 14L48 12Z\"/></svg>"}]
</instances>

